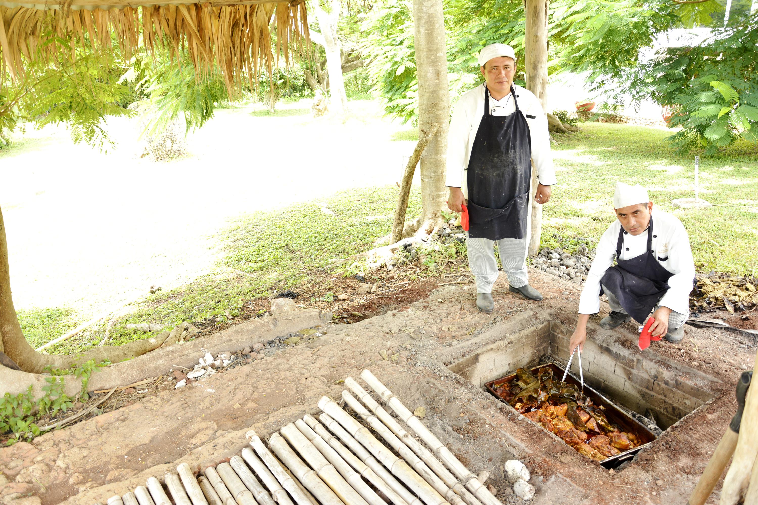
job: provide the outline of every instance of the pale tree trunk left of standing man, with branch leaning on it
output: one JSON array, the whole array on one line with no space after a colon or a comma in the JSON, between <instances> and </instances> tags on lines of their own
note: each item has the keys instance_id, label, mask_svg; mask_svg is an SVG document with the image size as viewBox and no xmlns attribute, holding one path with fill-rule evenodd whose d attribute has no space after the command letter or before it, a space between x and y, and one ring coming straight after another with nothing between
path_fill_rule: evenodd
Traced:
<instances>
[{"instance_id":1,"label":"pale tree trunk left of standing man, with branch leaning on it","mask_svg":"<svg viewBox=\"0 0 758 505\"><path fill-rule=\"evenodd\" d=\"M419 136L438 123L437 133L421 155L419 233L430 234L442 223L445 204L445 172L450 95L447 81L445 25L442 0L413 0L415 61L418 77Z\"/></svg>"}]
</instances>

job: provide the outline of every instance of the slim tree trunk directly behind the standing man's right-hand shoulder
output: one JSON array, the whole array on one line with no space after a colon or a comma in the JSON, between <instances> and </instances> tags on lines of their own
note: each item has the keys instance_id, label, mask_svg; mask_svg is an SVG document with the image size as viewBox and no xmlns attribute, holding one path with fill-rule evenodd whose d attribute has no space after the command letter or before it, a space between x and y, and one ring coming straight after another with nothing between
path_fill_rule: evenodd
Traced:
<instances>
[{"instance_id":1,"label":"slim tree trunk directly behind the standing man's right-hand shoulder","mask_svg":"<svg viewBox=\"0 0 758 505\"><path fill-rule=\"evenodd\" d=\"M524 38L526 88L542 102L547 112L547 3L549 0L525 0L526 30ZM531 239L529 255L537 254L542 234L542 205L534 201L537 170L531 178Z\"/></svg>"}]
</instances>

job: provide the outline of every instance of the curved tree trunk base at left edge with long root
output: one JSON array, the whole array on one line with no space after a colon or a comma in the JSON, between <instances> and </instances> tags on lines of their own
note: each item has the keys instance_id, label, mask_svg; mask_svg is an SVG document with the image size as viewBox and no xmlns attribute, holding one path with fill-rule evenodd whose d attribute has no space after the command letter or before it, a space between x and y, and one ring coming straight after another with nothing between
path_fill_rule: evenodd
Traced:
<instances>
[{"instance_id":1,"label":"curved tree trunk base at left edge with long root","mask_svg":"<svg viewBox=\"0 0 758 505\"><path fill-rule=\"evenodd\" d=\"M0 364L0 396L6 392L11 394L23 393L29 385L32 385L33 394L35 397L39 397L43 394L42 386L47 385L47 382L43 376L35 374L44 372L48 366L67 369L74 363L84 363L89 360L95 360L96 363L110 360L115 363L159 348L167 337L168 332L164 332L155 338L134 341L122 346L105 346L83 354L55 355L35 351L29 342L23 338L23 331L18 323L16 309L11 297L8 242L5 237L2 208L0 208L0 353L4 353L20 368L20 370L14 370ZM6 361L5 358L4 361ZM74 376L67 376L66 394L73 396L80 389L80 380L75 379Z\"/></svg>"}]
</instances>

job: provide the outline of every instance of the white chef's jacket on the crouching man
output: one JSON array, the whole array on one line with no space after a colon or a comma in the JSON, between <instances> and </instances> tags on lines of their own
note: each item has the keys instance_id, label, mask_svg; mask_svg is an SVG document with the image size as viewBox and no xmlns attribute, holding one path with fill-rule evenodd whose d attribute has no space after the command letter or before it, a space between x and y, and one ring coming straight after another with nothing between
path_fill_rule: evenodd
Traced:
<instances>
[{"instance_id":1,"label":"white chef's jacket on the crouching man","mask_svg":"<svg viewBox=\"0 0 758 505\"><path fill-rule=\"evenodd\" d=\"M658 304L686 314L689 312L690 291L692 291L692 280L695 276L695 265L687 230L672 214L662 210L653 210L652 216L653 242L650 247L655 252L658 263L674 274L669 279L669 291L666 291ZM615 220L597 243L595 259L592 261L590 273L587 274L587 282L579 298L580 314L594 314L600 310L600 279L613 265L620 229L621 223ZM649 231L650 229L646 229L640 235L629 235L624 232L620 259L631 260L640 254L646 254Z\"/></svg>"}]
</instances>

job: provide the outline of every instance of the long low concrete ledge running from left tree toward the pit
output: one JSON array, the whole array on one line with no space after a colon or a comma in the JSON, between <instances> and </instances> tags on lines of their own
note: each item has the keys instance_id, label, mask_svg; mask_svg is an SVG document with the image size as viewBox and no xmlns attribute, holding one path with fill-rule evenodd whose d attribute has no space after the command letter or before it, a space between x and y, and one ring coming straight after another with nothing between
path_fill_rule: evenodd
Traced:
<instances>
[{"instance_id":1,"label":"long low concrete ledge running from left tree toward the pit","mask_svg":"<svg viewBox=\"0 0 758 505\"><path fill-rule=\"evenodd\" d=\"M89 379L87 390L110 389L161 376L168 373L168 369L173 365L192 368L205 353L215 356L221 351L238 351L287 333L329 324L318 309L293 310L278 316L249 320L212 335L173 344L167 348L158 348L133 360L121 361L99 369Z\"/></svg>"}]
</instances>

